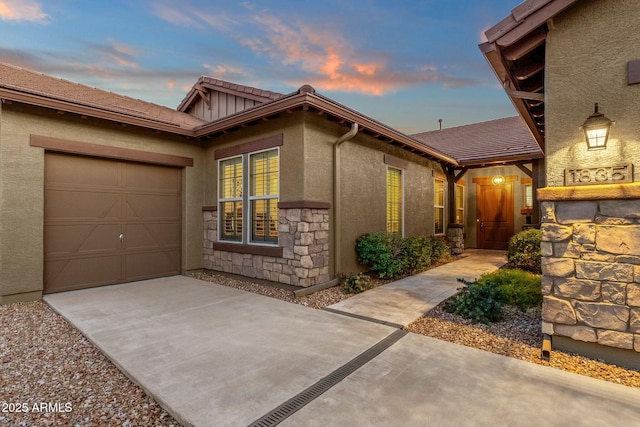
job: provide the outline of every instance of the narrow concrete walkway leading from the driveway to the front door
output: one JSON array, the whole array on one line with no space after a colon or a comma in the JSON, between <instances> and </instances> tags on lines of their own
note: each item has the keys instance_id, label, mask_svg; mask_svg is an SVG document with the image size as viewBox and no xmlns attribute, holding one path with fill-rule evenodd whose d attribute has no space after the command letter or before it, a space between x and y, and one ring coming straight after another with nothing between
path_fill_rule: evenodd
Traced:
<instances>
[{"instance_id":1,"label":"narrow concrete walkway leading from the driveway to the front door","mask_svg":"<svg viewBox=\"0 0 640 427\"><path fill-rule=\"evenodd\" d=\"M328 307L397 326L407 326L457 292L458 278L474 280L506 264L504 251L467 249L461 259L388 283Z\"/></svg>"}]
</instances>

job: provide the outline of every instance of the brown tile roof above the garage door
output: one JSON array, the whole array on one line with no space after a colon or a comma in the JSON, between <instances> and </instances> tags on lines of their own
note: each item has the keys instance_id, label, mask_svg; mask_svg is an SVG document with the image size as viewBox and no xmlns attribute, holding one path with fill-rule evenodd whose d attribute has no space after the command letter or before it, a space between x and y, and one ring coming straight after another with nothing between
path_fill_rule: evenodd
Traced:
<instances>
[{"instance_id":1,"label":"brown tile roof above the garage door","mask_svg":"<svg viewBox=\"0 0 640 427\"><path fill-rule=\"evenodd\" d=\"M26 97L34 104L38 104L40 100L38 105L55 104L55 108L62 111L66 110L65 105L73 106L75 108L70 111L82 110L87 116L101 117L100 113L112 113L109 115L111 119L117 119L118 116L123 119L131 118L141 125L148 123L150 127L162 124L190 131L204 123L196 117L168 107L0 62L0 97L12 99L11 95L15 95L18 100ZM47 100L54 102L49 105Z\"/></svg>"}]
</instances>

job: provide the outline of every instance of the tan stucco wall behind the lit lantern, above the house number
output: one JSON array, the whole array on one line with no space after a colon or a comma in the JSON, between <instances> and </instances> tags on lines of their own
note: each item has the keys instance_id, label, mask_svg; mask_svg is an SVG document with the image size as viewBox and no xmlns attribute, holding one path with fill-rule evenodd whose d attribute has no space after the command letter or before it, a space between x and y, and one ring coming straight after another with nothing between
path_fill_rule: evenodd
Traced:
<instances>
[{"instance_id":1,"label":"tan stucco wall behind the lit lantern, above the house number","mask_svg":"<svg viewBox=\"0 0 640 427\"><path fill-rule=\"evenodd\" d=\"M640 162L640 85L627 84L627 63L640 59L638 16L636 0L584 0L554 18L546 43L547 185L564 185L569 167ZM588 151L579 126L596 102L616 124L606 150Z\"/></svg>"}]
</instances>

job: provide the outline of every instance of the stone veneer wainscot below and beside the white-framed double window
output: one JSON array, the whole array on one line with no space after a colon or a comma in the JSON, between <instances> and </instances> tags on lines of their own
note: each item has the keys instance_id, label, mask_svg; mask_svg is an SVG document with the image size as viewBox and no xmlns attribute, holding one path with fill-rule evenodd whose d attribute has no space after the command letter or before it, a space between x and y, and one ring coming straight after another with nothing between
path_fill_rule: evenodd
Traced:
<instances>
[{"instance_id":1,"label":"stone veneer wainscot below and beside the white-framed double window","mask_svg":"<svg viewBox=\"0 0 640 427\"><path fill-rule=\"evenodd\" d=\"M203 220L205 269L303 287L330 279L329 209L324 203L281 202L277 248L255 245L234 247L228 243L222 246L218 242L218 213L215 207L203 208ZM275 250L277 255L271 256L268 253L270 250Z\"/></svg>"}]
</instances>

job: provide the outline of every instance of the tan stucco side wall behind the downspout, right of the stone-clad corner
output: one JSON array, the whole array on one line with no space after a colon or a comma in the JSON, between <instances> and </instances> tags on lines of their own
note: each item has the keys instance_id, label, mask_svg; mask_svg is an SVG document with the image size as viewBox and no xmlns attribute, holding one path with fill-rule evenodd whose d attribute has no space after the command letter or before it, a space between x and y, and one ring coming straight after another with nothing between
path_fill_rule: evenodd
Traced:
<instances>
[{"instance_id":1,"label":"tan stucco side wall behind the downspout, right of the stone-clad corner","mask_svg":"<svg viewBox=\"0 0 640 427\"><path fill-rule=\"evenodd\" d=\"M333 143L349 131L349 127L308 114L305 129L308 165L305 194L314 200L324 200L332 197L333 191ZM335 271L337 274L365 270L357 261L357 238L369 232L386 231L389 165L385 164L385 154L406 162L403 168L404 235L433 234L433 170L442 171L441 165L360 131L340 147L341 271ZM334 272L333 256L331 258Z\"/></svg>"}]
</instances>

